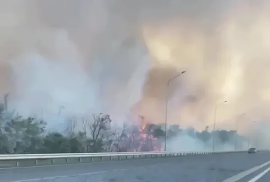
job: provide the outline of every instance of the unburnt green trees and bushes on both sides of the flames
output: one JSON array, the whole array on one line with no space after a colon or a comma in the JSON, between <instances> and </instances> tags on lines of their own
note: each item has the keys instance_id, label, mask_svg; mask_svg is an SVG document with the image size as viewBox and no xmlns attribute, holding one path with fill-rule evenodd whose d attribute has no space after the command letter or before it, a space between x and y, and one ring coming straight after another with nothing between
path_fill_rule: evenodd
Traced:
<instances>
[{"instance_id":1,"label":"unburnt green trees and bushes on both sides of the flames","mask_svg":"<svg viewBox=\"0 0 270 182\"><path fill-rule=\"evenodd\" d=\"M74 120L64 133L46 130L46 122L36 118L22 118L15 112L6 112L0 109L0 153L78 153L111 151L111 140L124 140L122 133L110 127L109 115L93 115L91 121L80 121L82 130L77 130ZM158 140L164 139L164 131L159 125L151 124L152 135ZM117 134L118 133L118 134ZM170 126L167 139L187 135L206 146L211 145L213 135L216 135L218 144L234 145L235 131L218 130L209 132L196 131L193 128L181 129L178 125ZM113 139L110 139L113 136ZM240 137L239 137L240 138ZM243 139L242 139L243 141ZM240 140L239 140L240 144Z\"/></svg>"}]
</instances>

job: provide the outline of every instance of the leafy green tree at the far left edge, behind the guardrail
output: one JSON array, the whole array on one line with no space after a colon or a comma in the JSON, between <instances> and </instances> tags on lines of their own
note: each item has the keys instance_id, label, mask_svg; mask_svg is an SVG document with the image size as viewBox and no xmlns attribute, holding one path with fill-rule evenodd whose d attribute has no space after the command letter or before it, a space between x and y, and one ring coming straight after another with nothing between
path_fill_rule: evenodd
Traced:
<instances>
[{"instance_id":1,"label":"leafy green tree at the far left edge, behind the guardrail","mask_svg":"<svg viewBox=\"0 0 270 182\"><path fill-rule=\"evenodd\" d=\"M46 123L35 118L22 118L15 111L0 114L1 147L6 153L35 153L42 146ZM6 145L6 146L3 146Z\"/></svg>"}]
</instances>

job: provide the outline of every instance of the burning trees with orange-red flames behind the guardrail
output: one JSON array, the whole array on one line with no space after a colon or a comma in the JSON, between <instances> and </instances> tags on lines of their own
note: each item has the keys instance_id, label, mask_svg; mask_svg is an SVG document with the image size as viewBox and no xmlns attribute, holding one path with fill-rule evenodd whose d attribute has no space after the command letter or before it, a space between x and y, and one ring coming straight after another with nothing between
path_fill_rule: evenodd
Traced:
<instances>
[{"instance_id":1,"label":"burning trees with orange-red flames behind the guardrail","mask_svg":"<svg viewBox=\"0 0 270 182\"><path fill-rule=\"evenodd\" d=\"M125 127L119 136L119 140L111 140L112 152L141 152L162 151L163 137L155 136L155 130L159 129L154 124L145 122L144 116L140 116L140 125Z\"/></svg>"}]
</instances>

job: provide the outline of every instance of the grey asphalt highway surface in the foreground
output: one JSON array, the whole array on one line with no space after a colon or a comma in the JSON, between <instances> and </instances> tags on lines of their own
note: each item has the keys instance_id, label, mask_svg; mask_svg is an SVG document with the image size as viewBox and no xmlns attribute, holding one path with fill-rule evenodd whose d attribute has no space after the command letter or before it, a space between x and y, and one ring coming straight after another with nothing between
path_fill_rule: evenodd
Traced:
<instances>
[{"instance_id":1,"label":"grey asphalt highway surface in the foreground","mask_svg":"<svg viewBox=\"0 0 270 182\"><path fill-rule=\"evenodd\" d=\"M12 168L0 170L0 182L223 182L267 161L270 161L270 152ZM270 162L238 181L227 182L249 182L268 167ZM270 172L254 182L270 182Z\"/></svg>"}]
</instances>

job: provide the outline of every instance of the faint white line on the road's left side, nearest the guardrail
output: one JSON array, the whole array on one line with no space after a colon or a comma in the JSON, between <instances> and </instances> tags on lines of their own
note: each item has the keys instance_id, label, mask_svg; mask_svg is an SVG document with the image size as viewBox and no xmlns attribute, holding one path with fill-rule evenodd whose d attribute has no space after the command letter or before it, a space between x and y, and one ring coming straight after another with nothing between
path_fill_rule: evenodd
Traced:
<instances>
[{"instance_id":1,"label":"faint white line on the road's left side, nearest the guardrail","mask_svg":"<svg viewBox=\"0 0 270 182\"><path fill-rule=\"evenodd\" d=\"M126 169L116 169L112 171L125 171ZM95 174L101 174L101 173L107 173L107 171L97 171L97 172L91 172L91 173L83 173L83 174L76 174L76 175L65 175L65 176L54 176L54 177L45 177L45 178L34 178L34 179L27 179L27 180L17 180L12 182L34 182L34 181L41 181L41 180L54 180L57 178L69 178L69 177L77 177L77 176L87 176L87 175L95 175Z\"/></svg>"}]
</instances>

